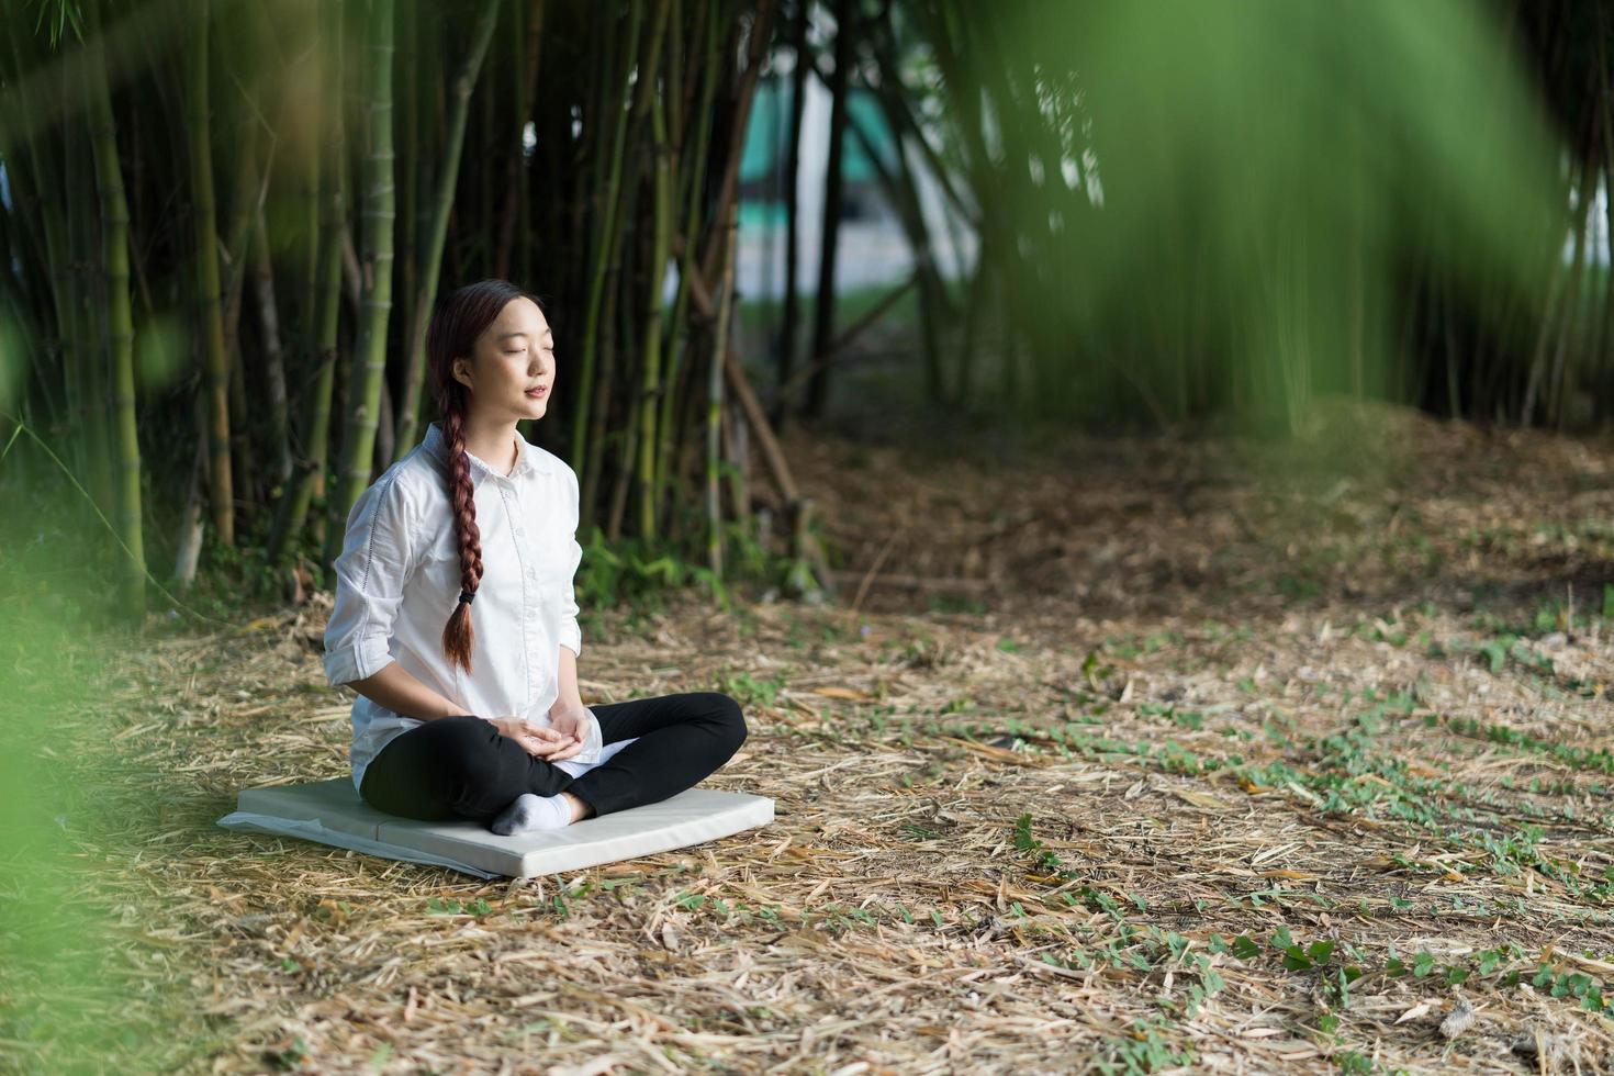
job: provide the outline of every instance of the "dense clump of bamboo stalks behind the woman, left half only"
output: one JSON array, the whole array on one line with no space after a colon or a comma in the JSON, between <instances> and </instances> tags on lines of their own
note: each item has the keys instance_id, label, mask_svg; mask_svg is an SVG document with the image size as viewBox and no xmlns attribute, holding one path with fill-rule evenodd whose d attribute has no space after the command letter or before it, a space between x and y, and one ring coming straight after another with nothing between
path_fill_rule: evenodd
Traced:
<instances>
[{"instance_id":1,"label":"dense clump of bamboo stalks behind the woman, left half only","mask_svg":"<svg viewBox=\"0 0 1614 1076\"><path fill-rule=\"evenodd\" d=\"M557 407L525 432L576 468L583 526L720 571L749 513L725 327L771 19L770 0L8 3L3 324L27 365L5 408L116 521L126 607L153 519L181 582L205 539L328 565L433 418L439 290L483 276L546 302Z\"/></svg>"}]
</instances>

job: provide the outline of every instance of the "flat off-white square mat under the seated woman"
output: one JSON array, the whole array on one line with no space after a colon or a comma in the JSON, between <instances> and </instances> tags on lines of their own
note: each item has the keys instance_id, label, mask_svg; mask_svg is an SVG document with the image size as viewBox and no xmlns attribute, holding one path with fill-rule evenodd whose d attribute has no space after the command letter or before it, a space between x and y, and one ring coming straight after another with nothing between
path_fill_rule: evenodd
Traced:
<instances>
[{"instance_id":1,"label":"flat off-white square mat under the seated woman","mask_svg":"<svg viewBox=\"0 0 1614 1076\"><path fill-rule=\"evenodd\" d=\"M407 863L452 866L478 878L531 878L688 849L771 821L773 800L763 795L696 787L660 803L584 818L565 829L500 837L481 823L423 823L378 811L360 799L350 778L331 778L242 789L236 810L218 824Z\"/></svg>"}]
</instances>

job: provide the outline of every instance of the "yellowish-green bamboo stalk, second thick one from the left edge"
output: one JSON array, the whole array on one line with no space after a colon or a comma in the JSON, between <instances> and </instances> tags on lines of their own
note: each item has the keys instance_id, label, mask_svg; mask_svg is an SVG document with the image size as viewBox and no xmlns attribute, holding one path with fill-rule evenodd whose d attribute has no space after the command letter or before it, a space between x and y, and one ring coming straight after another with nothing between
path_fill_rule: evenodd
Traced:
<instances>
[{"instance_id":1,"label":"yellowish-green bamboo stalk, second thick one from the left edge","mask_svg":"<svg viewBox=\"0 0 1614 1076\"><path fill-rule=\"evenodd\" d=\"M213 202L213 144L208 131L208 0L194 10L187 65L190 136L190 197L195 218L197 319L200 323L202 366L207 374L208 413L208 500L213 526L223 545L236 544L234 482L229 463L229 360L224 352L224 319L220 311L218 229Z\"/></svg>"}]
</instances>

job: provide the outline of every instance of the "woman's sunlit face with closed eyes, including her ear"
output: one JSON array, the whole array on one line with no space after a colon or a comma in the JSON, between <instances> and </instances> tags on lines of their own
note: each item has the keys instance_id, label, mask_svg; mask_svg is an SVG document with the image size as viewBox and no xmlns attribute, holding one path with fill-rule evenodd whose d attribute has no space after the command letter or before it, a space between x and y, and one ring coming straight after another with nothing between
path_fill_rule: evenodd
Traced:
<instances>
[{"instance_id":1,"label":"woman's sunlit face with closed eyes, including her ear","mask_svg":"<svg viewBox=\"0 0 1614 1076\"><path fill-rule=\"evenodd\" d=\"M555 337L531 298L505 303L470 358L454 360L454 377L470 389L478 421L544 418L555 389Z\"/></svg>"}]
</instances>

